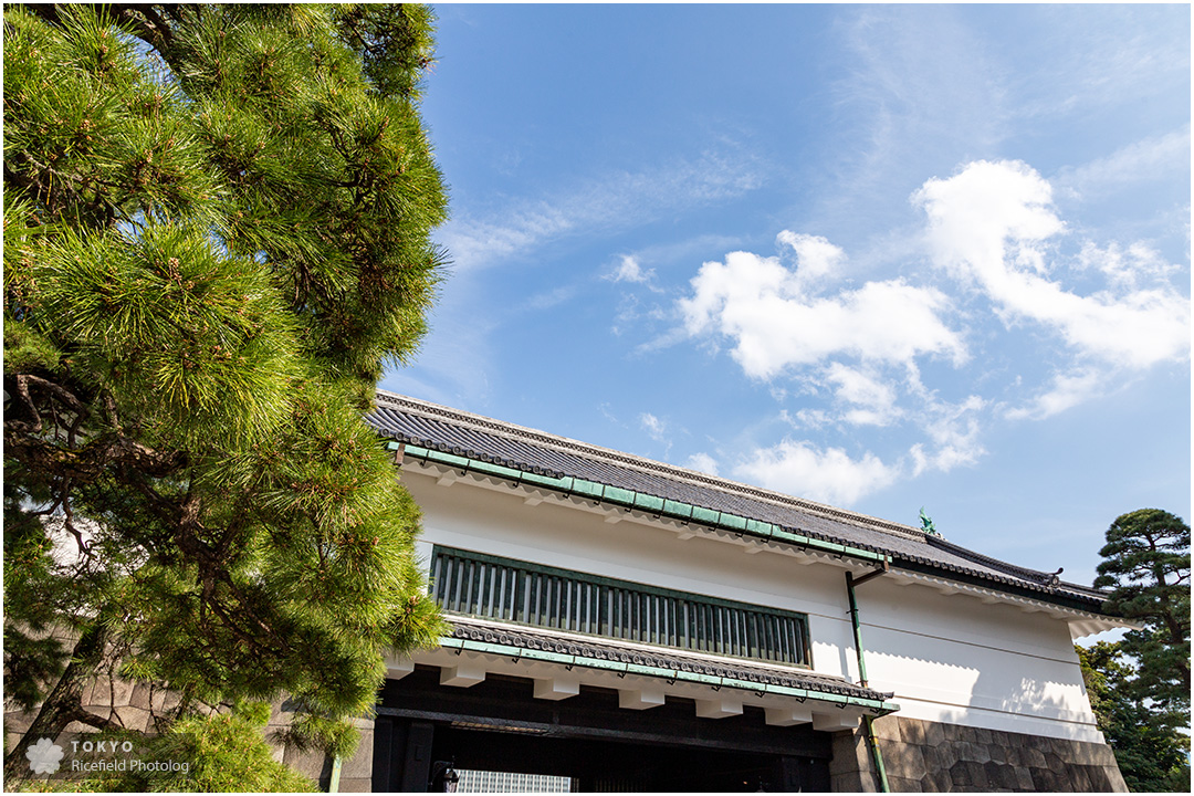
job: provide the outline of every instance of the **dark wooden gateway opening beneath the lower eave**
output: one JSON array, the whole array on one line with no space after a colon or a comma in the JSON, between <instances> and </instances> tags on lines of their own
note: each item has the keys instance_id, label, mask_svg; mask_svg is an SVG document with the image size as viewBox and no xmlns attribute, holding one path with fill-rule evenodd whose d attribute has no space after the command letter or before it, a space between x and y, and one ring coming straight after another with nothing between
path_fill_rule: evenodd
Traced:
<instances>
[{"instance_id":1,"label":"dark wooden gateway opening beneath the lower eave","mask_svg":"<svg viewBox=\"0 0 1194 796\"><path fill-rule=\"evenodd\" d=\"M758 708L708 720L672 697L623 710L614 690L583 686L547 702L534 698L529 679L490 675L458 689L438 678L420 666L387 681L374 730L375 792L425 791L436 763L570 777L598 792L829 790L829 735L770 727Z\"/></svg>"}]
</instances>

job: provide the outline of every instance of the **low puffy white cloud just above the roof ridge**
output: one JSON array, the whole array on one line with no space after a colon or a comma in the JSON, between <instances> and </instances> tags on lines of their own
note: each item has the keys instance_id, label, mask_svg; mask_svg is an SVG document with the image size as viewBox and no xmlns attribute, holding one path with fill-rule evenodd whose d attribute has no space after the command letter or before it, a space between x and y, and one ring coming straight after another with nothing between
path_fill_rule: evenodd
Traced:
<instances>
[{"instance_id":1,"label":"low puffy white cloud just above the roof ridge","mask_svg":"<svg viewBox=\"0 0 1194 796\"><path fill-rule=\"evenodd\" d=\"M756 450L749 462L734 468L734 475L776 492L849 506L894 483L899 468L884 464L870 452L854 459L841 448L821 450L784 439Z\"/></svg>"}]
</instances>

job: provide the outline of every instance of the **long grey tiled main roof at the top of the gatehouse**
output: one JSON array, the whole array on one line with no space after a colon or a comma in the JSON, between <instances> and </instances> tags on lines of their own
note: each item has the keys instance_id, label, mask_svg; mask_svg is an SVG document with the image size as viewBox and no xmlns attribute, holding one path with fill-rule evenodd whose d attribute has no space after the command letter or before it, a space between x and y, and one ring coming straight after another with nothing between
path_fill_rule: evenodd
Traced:
<instances>
[{"instance_id":1,"label":"long grey tiled main roof at the top of the gatehouse","mask_svg":"<svg viewBox=\"0 0 1194 796\"><path fill-rule=\"evenodd\" d=\"M416 399L377 393L381 436L516 470L572 476L773 523L802 536L890 555L892 566L1101 612L1104 596L929 536L921 529L737 483Z\"/></svg>"}]
</instances>

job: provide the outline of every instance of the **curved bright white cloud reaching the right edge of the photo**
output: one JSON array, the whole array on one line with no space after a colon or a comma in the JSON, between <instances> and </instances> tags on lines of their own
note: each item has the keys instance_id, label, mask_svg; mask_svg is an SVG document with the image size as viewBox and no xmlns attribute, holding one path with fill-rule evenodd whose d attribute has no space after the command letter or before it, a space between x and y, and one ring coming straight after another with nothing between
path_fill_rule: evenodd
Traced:
<instances>
[{"instance_id":1,"label":"curved bright white cloud reaching the right edge of the photo","mask_svg":"<svg viewBox=\"0 0 1194 796\"><path fill-rule=\"evenodd\" d=\"M986 294L1005 322L1053 327L1070 346L1115 365L1188 356L1189 301L1171 288L1079 296L1048 278L1046 241L1065 227L1050 184L1026 163L968 163L925 183L912 202L929 217L935 261Z\"/></svg>"}]
</instances>

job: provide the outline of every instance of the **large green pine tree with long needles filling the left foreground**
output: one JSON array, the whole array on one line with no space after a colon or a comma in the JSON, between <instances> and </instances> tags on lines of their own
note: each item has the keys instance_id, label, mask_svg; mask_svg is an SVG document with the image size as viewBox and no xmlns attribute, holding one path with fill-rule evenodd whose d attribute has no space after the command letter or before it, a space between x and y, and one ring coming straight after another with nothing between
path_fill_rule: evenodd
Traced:
<instances>
[{"instance_id":1,"label":"large green pine tree with long needles filling the left foreground","mask_svg":"<svg viewBox=\"0 0 1194 796\"><path fill-rule=\"evenodd\" d=\"M5 669L293 695L333 753L432 643L418 511L362 422L444 258L423 6L5 7ZM69 640L69 641L63 641ZM11 749L6 773L21 760Z\"/></svg>"}]
</instances>

